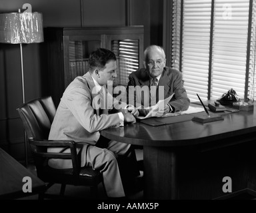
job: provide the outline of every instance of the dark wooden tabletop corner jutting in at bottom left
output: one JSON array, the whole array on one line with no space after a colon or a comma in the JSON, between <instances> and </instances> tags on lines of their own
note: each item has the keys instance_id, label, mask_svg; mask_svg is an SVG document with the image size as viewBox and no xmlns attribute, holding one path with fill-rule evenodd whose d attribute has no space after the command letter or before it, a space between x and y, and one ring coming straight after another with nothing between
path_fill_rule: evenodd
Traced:
<instances>
[{"instance_id":1,"label":"dark wooden tabletop corner jutting in at bottom left","mask_svg":"<svg viewBox=\"0 0 256 213\"><path fill-rule=\"evenodd\" d=\"M32 180L32 192L23 192L23 177ZM45 190L45 183L0 148L0 200L31 196Z\"/></svg>"}]
</instances>

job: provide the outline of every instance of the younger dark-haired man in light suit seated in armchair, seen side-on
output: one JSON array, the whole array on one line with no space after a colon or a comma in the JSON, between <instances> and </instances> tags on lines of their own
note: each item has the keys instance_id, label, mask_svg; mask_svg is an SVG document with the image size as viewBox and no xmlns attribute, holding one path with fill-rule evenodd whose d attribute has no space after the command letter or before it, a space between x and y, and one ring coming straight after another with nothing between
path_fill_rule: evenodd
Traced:
<instances>
[{"instance_id":1,"label":"younger dark-haired man in light suit seated in armchair, seen side-on","mask_svg":"<svg viewBox=\"0 0 256 213\"><path fill-rule=\"evenodd\" d=\"M49 134L49 139L74 140L81 143L79 157L81 167L92 166L103 174L103 182L109 197L124 197L125 191L118 158L127 158L131 164L123 168L135 170L135 152L130 144L109 141L99 134L99 130L123 126L124 122L136 122L133 116L139 112L134 109L131 113L118 112L109 114L109 102L105 108L99 108L97 99L107 94L107 81L117 77L117 62L115 54L107 49L97 49L89 57L89 72L83 77L77 77L65 89ZM100 94L101 93L101 94ZM100 104L102 104L101 102ZM111 103L113 107L118 101ZM108 107L108 108L106 108ZM58 148L49 148L49 152L60 152ZM70 152L65 150L64 152ZM49 166L53 168L72 168L71 160L51 159ZM131 173L131 172L127 172ZM139 170L134 171L135 175ZM122 177L123 178L123 177Z\"/></svg>"}]
</instances>

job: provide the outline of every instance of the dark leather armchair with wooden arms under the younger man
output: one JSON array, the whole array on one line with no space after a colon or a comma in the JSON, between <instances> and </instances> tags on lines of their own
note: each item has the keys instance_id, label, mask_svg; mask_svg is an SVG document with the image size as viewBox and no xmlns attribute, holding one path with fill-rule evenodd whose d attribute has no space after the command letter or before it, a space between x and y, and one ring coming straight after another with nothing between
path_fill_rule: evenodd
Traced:
<instances>
[{"instance_id":1,"label":"dark leather armchair with wooden arms under the younger man","mask_svg":"<svg viewBox=\"0 0 256 213\"><path fill-rule=\"evenodd\" d=\"M35 99L17 108L37 168L37 176L47 182L47 189L53 184L61 184L60 195L65 192L65 185L83 185L91 187L91 196L97 196L97 186L103 180L102 174L91 167L80 167L77 157L77 144L73 140L48 140L51 123L56 112L51 97ZM47 147L69 147L71 153L49 153ZM55 169L48 166L49 158L69 158L72 169Z\"/></svg>"}]
</instances>

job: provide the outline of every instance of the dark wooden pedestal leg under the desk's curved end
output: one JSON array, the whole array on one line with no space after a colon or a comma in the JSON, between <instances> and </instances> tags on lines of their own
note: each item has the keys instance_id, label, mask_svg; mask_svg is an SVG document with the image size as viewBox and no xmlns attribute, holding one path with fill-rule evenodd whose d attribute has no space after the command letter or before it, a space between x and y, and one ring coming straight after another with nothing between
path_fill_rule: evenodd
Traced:
<instances>
[{"instance_id":1,"label":"dark wooden pedestal leg under the desk's curved end","mask_svg":"<svg viewBox=\"0 0 256 213\"><path fill-rule=\"evenodd\" d=\"M144 146L144 197L146 199L177 199L177 166L175 150Z\"/></svg>"}]
</instances>

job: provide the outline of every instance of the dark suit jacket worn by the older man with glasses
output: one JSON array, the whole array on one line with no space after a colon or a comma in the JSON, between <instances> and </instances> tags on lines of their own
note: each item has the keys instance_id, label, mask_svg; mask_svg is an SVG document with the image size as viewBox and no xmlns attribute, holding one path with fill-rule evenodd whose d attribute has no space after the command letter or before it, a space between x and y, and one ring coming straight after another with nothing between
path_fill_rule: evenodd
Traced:
<instances>
[{"instance_id":1,"label":"dark suit jacket worn by the older man with glasses","mask_svg":"<svg viewBox=\"0 0 256 213\"><path fill-rule=\"evenodd\" d=\"M145 98L145 95L149 96L149 93L143 92L141 95L135 95L134 100L131 100L131 95L129 96L129 93L131 93L131 88L129 89L129 86L139 86L144 87L147 86L149 88L150 85L150 77L149 73L146 69L139 69L129 75L129 83L127 86L127 99L129 100L129 104L134 102L134 105L136 106L136 103L143 103L144 100L149 99L149 97ZM164 94L159 94L161 97L164 97L166 99L167 97L171 96L173 93L175 95L169 102L169 105L171 107L175 108L175 111L178 110L187 110L189 108L189 98L187 97L187 92L185 91L185 88L183 87L183 77L182 73L177 71L176 69L171 69L169 67L165 67L163 69L163 73L161 75L161 78L158 83L158 87L163 86L164 87ZM158 93L157 93L158 95ZM157 97L158 101L158 97Z\"/></svg>"}]
</instances>

